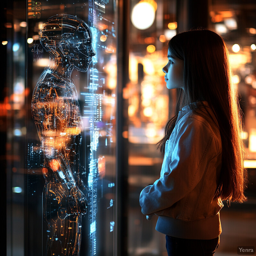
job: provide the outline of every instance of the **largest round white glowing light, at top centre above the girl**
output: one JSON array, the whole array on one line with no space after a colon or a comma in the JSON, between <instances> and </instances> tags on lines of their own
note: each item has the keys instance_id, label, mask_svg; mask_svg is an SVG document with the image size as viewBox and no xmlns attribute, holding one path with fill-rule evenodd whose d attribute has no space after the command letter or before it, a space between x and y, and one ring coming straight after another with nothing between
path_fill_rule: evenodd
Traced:
<instances>
[{"instance_id":1,"label":"largest round white glowing light, at top centre above the girl","mask_svg":"<svg viewBox=\"0 0 256 256\"><path fill-rule=\"evenodd\" d=\"M155 8L152 4L140 2L132 9L132 24L138 29L149 28L155 20Z\"/></svg>"}]
</instances>

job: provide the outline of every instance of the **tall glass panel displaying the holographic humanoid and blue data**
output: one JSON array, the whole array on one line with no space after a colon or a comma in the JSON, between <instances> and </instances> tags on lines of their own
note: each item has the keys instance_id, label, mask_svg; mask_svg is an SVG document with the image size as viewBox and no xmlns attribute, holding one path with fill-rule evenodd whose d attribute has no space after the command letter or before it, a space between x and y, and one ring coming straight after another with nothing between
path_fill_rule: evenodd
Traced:
<instances>
[{"instance_id":1,"label":"tall glass panel displaying the holographic humanoid and blue data","mask_svg":"<svg viewBox=\"0 0 256 256\"><path fill-rule=\"evenodd\" d=\"M8 10L8 255L113 255L117 3Z\"/></svg>"}]
</instances>

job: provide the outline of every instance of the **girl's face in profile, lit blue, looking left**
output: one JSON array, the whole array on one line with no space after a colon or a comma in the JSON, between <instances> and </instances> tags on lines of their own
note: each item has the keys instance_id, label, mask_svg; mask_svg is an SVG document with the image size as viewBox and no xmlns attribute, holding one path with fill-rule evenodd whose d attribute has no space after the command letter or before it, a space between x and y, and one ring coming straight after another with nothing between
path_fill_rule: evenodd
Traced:
<instances>
[{"instance_id":1,"label":"girl's face in profile, lit blue, looking left","mask_svg":"<svg viewBox=\"0 0 256 256\"><path fill-rule=\"evenodd\" d=\"M172 56L168 49L168 63L164 66L163 72L165 73L165 82L168 89L182 88L183 86L183 67L184 61L177 57Z\"/></svg>"}]
</instances>

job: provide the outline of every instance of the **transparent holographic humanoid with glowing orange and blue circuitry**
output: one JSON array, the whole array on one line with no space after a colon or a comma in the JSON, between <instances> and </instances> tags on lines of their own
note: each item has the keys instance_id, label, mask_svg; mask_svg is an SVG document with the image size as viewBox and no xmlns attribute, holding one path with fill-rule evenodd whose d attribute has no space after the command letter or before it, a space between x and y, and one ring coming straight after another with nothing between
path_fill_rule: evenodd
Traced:
<instances>
[{"instance_id":1,"label":"transparent holographic humanoid with glowing orange and blue circuitry","mask_svg":"<svg viewBox=\"0 0 256 256\"><path fill-rule=\"evenodd\" d=\"M79 255L87 190L79 176L83 122L71 73L87 71L95 55L92 32L77 17L56 15L43 24L40 43L50 62L34 89L32 116L44 150L46 254Z\"/></svg>"}]
</instances>

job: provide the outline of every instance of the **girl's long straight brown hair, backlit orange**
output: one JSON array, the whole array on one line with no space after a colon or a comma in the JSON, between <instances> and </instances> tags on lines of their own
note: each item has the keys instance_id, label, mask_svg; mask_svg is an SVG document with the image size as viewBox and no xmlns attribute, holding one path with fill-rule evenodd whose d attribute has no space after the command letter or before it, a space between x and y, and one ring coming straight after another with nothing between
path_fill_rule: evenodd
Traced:
<instances>
[{"instance_id":1,"label":"girl's long straight brown hair, backlit orange","mask_svg":"<svg viewBox=\"0 0 256 256\"><path fill-rule=\"evenodd\" d=\"M218 121L222 142L222 167L215 198L242 203L247 200L244 196L247 170L244 169L245 151L241 139L242 113L231 83L228 48L218 34L202 29L177 34L169 41L168 48L173 56L184 60L184 90L177 89L175 116L166 123L158 148L164 152L181 108L206 100ZM189 106L195 109L193 104Z\"/></svg>"}]
</instances>

